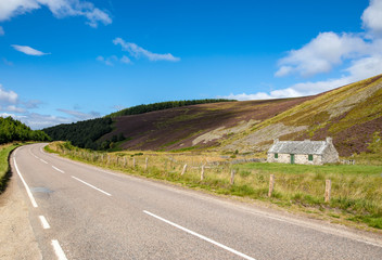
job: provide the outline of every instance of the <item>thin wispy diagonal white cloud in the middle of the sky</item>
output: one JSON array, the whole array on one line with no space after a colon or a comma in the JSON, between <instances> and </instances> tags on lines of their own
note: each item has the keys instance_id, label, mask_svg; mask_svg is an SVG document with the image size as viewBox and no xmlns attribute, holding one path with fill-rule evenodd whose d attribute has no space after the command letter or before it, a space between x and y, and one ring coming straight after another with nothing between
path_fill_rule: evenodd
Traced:
<instances>
[{"instance_id":1,"label":"thin wispy diagonal white cloud in the middle of the sky","mask_svg":"<svg viewBox=\"0 0 382 260\"><path fill-rule=\"evenodd\" d=\"M156 61L179 62L180 61L180 57L173 56L173 54L170 53L166 53L166 54L152 53L137 46L136 43L126 42L122 38L115 38L113 40L113 43L116 46L119 44L124 51L129 52L129 54L136 58L143 56L149 58L152 62L156 62Z\"/></svg>"}]
</instances>

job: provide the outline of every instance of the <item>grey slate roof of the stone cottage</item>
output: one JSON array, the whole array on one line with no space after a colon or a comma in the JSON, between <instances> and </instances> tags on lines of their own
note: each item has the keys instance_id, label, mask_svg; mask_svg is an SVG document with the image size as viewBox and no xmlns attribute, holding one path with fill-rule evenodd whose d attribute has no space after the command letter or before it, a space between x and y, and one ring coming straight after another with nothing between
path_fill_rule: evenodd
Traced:
<instances>
[{"instance_id":1,"label":"grey slate roof of the stone cottage","mask_svg":"<svg viewBox=\"0 0 382 260\"><path fill-rule=\"evenodd\" d=\"M279 141L273 143L268 153L321 155L328 145L326 141Z\"/></svg>"}]
</instances>

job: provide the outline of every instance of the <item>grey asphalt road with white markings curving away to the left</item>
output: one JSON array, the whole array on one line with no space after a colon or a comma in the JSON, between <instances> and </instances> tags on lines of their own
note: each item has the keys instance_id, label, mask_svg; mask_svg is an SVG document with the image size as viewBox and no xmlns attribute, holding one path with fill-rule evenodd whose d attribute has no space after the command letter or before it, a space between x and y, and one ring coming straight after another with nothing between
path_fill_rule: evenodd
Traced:
<instances>
[{"instance_id":1,"label":"grey asphalt road with white markings curving away to the left","mask_svg":"<svg viewBox=\"0 0 382 260\"><path fill-rule=\"evenodd\" d=\"M20 147L43 259L382 259L382 238Z\"/></svg>"}]
</instances>

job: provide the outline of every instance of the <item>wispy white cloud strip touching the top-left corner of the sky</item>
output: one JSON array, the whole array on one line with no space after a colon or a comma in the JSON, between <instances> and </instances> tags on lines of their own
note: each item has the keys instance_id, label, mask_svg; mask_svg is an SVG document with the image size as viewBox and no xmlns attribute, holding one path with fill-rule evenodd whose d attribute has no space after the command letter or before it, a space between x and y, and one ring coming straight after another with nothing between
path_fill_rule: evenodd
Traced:
<instances>
[{"instance_id":1,"label":"wispy white cloud strip touching the top-left corner of the sky","mask_svg":"<svg viewBox=\"0 0 382 260\"><path fill-rule=\"evenodd\" d=\"M11 20L14 16L31 12L47 6L55 17L84 16L87 24L91 27L98 27L99 23L109 25L112 23L110 15L96 8L94 4L80 0L1 0L0 1L0 21Z\"/></svg>"}]
</instances>

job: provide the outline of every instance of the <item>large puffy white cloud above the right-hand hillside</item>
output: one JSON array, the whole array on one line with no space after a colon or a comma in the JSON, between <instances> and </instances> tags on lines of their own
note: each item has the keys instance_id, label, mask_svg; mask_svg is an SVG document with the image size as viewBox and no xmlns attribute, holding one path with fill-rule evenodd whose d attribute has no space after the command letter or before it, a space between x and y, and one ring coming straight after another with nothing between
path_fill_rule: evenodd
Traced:
<instances>
[{"instance_id":1,"label":"large puffy white cloud above the right-hand hillside","mask_svg":"<svg viewBox=\"0 0 382 260\"><path fill-rule=\"evenodd\" d=\"M321 32L309 43L298 50L292 50L286 57L279 61L281 67L277 77L297 73L303 77L328 73L333 66L342 64L345 58L365 55L369 44L359 36L338 35L332 31Z\"/></svg>"}]
</instances>

